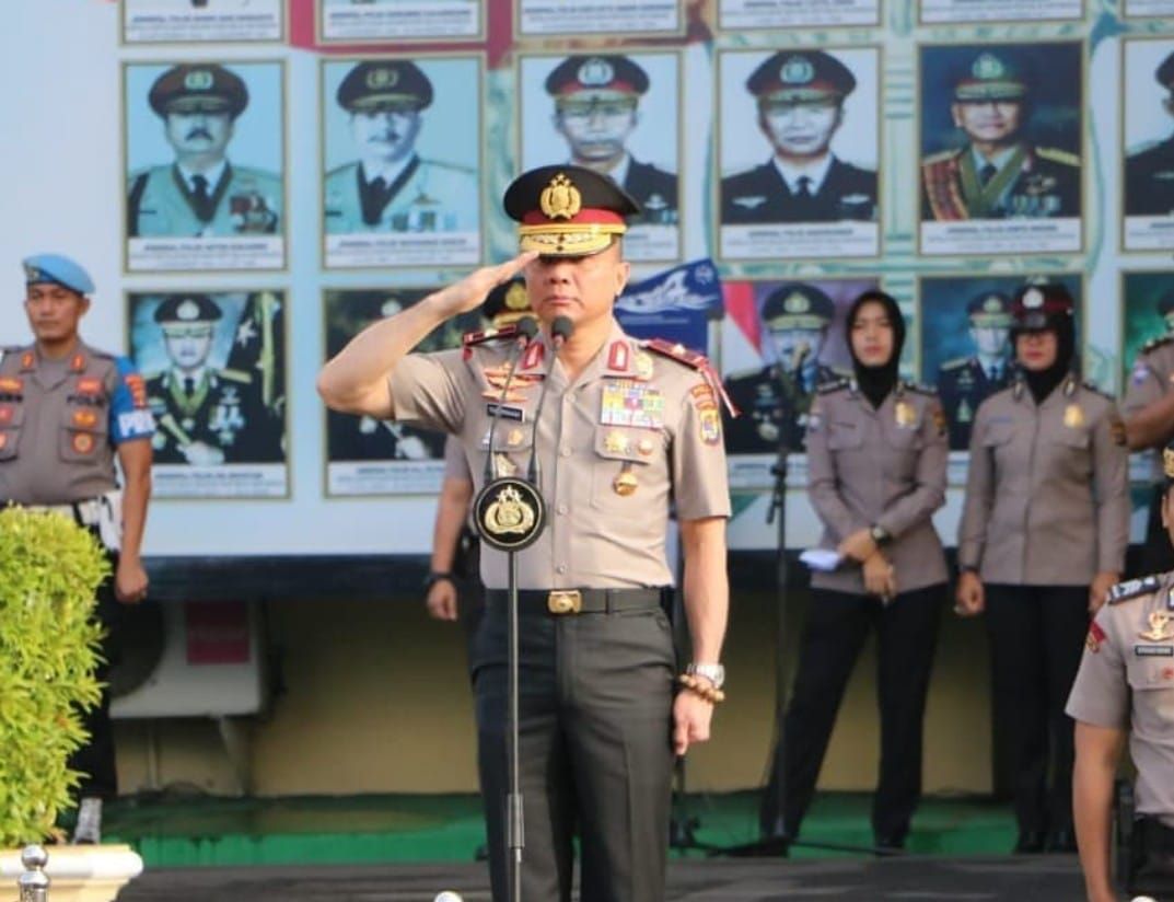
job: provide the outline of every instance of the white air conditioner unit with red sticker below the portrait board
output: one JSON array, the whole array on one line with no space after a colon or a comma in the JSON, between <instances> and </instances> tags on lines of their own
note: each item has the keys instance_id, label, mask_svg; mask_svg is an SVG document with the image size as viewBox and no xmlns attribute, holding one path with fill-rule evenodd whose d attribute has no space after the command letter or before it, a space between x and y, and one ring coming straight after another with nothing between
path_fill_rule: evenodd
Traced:
<instances>
[{"instance_id":1,"label":"white air conditioner unit with red sticker below the portrait board","mask_svg":"<svg viewBox=\"0 0 1174 902\"><path fill-rule=\"evenodd\" d=\"M136 608L110 674L114 718L225 718L265 701L256 603L183 601Z\"/></svg>"}]
</instances>

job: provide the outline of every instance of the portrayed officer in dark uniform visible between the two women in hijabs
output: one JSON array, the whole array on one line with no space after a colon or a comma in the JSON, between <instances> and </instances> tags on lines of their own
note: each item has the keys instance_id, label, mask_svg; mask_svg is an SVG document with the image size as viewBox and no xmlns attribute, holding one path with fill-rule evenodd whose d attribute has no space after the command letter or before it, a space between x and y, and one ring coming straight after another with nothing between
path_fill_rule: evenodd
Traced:
<instances>
[{"instance_id":1,"label":"portrayed officer in dark uniform visible between the two women in hijabs","mask_svg":"<svg viewBox=\"0 0 1174 902\"><path fill-rule=\"evenodd\" d=\"M1003 291L981 291L966 304L966 321L973 352L942 363L935 381L954 451L970 447L978 405L1006 388L1012 369L1011 298Z\"/></svg>"}]
</instances>

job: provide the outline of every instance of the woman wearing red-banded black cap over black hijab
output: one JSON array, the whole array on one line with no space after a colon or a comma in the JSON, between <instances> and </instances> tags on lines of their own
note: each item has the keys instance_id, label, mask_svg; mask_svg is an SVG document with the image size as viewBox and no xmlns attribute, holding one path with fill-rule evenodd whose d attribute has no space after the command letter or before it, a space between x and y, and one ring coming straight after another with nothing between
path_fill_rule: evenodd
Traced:
<instances>
[{"instance_id":1,"label":"woman wearing red-banded black cap over black hijab","mask_svg":"<svg viewBox=\"0 0 1174 902\"><path fill-rule=\"evenodd\" d=\"M1019 372L974 417L958 526L956 610L986 614L996 760L1023 853L1075 850L1064 705L1129 534L1125 429L1113 398L1075 375L1074 307L1061 284L1016 292Z\"/></svg>"}]
</instances>

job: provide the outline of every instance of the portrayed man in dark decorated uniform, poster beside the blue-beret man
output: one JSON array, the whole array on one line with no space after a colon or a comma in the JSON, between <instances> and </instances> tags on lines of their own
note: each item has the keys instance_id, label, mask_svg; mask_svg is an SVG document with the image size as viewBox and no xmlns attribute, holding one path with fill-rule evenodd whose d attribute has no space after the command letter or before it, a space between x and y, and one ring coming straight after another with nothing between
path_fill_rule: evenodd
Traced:
<instances>
[{"instance_id":1,"label":"portrayed man in dark decorated uniform, poster beside the blue-beret man","mask_svg":"<svg viewBox=\"0 0 1174 902\"><path fill-rule=\"evenodd\" d=\"M156 464L217 466L281 463L283 422L266 408L252 373L212 359L224 311L203 294L163 297L151 319L168 361L148 373L147 399L157 430ZM141 354L143 349L136 348Z\"/></svg>"}]
</instances>

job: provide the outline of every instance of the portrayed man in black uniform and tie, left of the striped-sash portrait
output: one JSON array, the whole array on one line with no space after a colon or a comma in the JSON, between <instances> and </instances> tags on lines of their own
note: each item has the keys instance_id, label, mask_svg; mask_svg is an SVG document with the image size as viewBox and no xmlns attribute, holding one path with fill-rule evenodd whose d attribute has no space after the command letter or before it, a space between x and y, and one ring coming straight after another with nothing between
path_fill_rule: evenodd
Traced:
<instances>
[{"instance_id":1,"label":"portrayed man in black uniform and tie, left of the striped-sash portrait","mask_svg":"<svg viewBox=\"0 0 1174 902\"><path fill-rule=\"evenodd\" d=\"M851 69L824 51L780 51L754 69L745 89L772 154L722 179L722 224L875 220L876 171L845 162L831 147L844 100L856 89Z\"/></svg>"}]
</instances>

